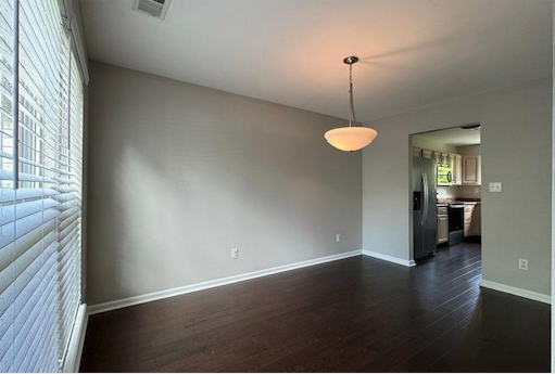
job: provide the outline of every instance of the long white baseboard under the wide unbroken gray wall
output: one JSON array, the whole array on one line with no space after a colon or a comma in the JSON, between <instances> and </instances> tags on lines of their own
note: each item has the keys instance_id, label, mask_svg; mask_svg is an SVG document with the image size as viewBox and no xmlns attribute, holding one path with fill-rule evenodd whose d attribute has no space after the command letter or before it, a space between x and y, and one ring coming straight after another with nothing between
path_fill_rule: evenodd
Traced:
<instances>
[{"instance_id":1,"label":"long white baseboard under the wide unbroken gray wall","mask_svg":"<svg viewBox=\"0 0 555 374\"><path fill-rule=\"evenodd\" d=\"M119 309L119 308L130 307L130 306L138 305L138 304L160 300L160 299L164 299L166 297L173 297L173 296L178 296L178 295L182 295L182 294L193 293L195 291L219 287L219 286L223 286L226 284L231 284L231 283L242 282L242 281L247 281L247 280L252 280L255 278L281 273L283 271L289 271L289 270L294 270L294 269L300 269L300 268L305 268L305 267L312 267L312 266L319 265L319 263L337 261L337 260L348 258L348 257L360 256L362 254L363 254L362 249L356 249L356 250L345 252L342 254L315 258L312 260L283 265L283 266L279 266L279 267L275 267L275 268L253 271L253 272L227 276L227 278L220 278L220 279L217 279L214 281L194 283L194 284L190 284L187 286L159 291L159 292L139 295L139 296L133 296L133 297L114 300L114 301L97 304L97 305L90 306L88 308L88 314L90 315L90 314L101 313L101 312L115 310L115 309Z\"/></svg>"}]
</instances>

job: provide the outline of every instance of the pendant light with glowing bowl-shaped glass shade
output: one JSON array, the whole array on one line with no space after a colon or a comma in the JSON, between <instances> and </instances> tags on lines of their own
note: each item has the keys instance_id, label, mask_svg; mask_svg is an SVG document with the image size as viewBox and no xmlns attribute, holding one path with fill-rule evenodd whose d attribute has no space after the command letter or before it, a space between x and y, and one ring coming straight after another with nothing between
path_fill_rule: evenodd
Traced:
<instances>
[{"instance_id":1,"label":"pendant light with glowing bowl-shaped glass shade","mask_svg":"<svg viewBox=\"0 0 555 374\"><path fill-rule=\"evenodd\" d=\"M356 125L356 117L354 114L353 104L353 64L358 61L357 56L349 56L343 60L349 65L349 127L339 127L337 129L329 130L324 134L324 138L333 145L336 149L353 152L364 149L370 144L374 139L378 136L378 131L364 126Z\"/></svg>"}]
</instances>

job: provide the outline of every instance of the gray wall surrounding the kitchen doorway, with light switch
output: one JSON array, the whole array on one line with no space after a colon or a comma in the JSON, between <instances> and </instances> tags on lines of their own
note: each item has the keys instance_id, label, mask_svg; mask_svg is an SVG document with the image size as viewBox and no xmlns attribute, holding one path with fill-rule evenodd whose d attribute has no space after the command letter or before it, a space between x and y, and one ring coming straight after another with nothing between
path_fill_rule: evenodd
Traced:
<instances>
[{"instance_id":1,"label":"gray wall surrounding the kitchen doorway, with light switch","mask_svg":"<svg viewBox=\"0 0 555 374\"><path fill-rule=\"evenodd\" d=\"M363 154L363 247L413 258L409 134L479 121L483 279L551 294L551 79L491 91L368 124ZM529 271L517 269L529 259Z\"/></svg>"}]
</instances>

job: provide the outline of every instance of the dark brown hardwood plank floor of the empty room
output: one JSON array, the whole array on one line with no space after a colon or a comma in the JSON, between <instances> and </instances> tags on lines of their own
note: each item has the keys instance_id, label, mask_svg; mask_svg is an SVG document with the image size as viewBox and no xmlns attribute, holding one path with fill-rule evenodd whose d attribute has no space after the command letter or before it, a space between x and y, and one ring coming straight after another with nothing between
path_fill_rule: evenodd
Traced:
<instances>
[{"instance_id":1,"label":"dark brown hardwood plank floor of the empty room","mask_svg":"<svg viewBox=\"0 0 555 374\"><path fill-rule=\"evenodd\" d=\"M550 306L480 289L479 244L353 257L91 315L83 372L547 372Z\"/></svg>"}]
</instances>

